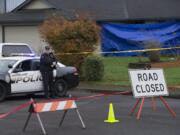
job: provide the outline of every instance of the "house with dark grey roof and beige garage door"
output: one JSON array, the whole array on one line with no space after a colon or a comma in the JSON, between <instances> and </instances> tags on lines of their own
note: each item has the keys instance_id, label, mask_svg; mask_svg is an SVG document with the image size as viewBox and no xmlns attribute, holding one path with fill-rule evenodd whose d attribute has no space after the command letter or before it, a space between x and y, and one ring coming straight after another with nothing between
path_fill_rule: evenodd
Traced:
<instances>
[{"instance_id":1,"label":"house with dark grey roof and beige garage door","mask_svg":"<svg viewBox=\"0 0 180 135\"><path fill-rule=\"evenodd\" d=\"M4 1L4 2L3 2ZM75 19L87 13L97 22L148 23L180 19L179 0L1 0L0 42L25 42L37 52L47 43L38 27L54 13ZM7 6L7 3L9 6ZM1 8L1 13L3 12Z\"/></svg>"}]
</instances>

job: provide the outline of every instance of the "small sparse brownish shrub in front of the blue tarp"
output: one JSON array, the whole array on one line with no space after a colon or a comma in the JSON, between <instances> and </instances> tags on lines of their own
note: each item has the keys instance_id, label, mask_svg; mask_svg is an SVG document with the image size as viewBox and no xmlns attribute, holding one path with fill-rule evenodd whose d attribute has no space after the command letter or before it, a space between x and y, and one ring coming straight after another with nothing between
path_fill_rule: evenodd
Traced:
<instances>
[{"instance_id":1,"label":"small sparse brownish shrub in front of the blue tarp","mask_svg":"<svg viewBox=\"0 0 180 135\"><path fill-rule=\"evenodd\" d=\"M148 41L145 43L147 49L161 48L161 44L157 41ZM147 52L150 62L160 62L160 51Z\"/></svg>"}]
</instances>

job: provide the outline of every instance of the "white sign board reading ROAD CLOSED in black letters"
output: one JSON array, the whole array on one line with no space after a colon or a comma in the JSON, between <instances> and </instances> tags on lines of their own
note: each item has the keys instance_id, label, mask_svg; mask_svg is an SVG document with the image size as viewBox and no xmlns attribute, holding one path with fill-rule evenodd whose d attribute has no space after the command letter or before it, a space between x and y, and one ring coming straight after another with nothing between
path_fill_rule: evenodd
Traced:
<instances>
[{"instance_id":1,"label":"white sign board reading ROAD CLOSED in black letters","mask_svg":"<svg viewBox=\"0 0 180 135\"><path fill-rule=\"evenodd\" d=\"M135 98L168 96L162 69L129 70Z\"/></svg>"}]
</instances>

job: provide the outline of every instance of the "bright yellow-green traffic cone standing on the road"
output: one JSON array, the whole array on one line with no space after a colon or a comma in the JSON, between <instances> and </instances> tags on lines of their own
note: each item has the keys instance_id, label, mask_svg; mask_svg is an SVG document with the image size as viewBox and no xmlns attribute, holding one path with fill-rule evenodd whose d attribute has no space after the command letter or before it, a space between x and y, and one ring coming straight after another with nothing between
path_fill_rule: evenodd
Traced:
<instances>
[{"instance_id":1,"label":"bright yellow-green traffic cone standing on the road","mask_svg":"<svg viewBox=\"0 0 180 135\"><path fill-rule=\"evenodd\" d=\"M116 123L119 122L119 120L116 120L115 115L114 115L114 109L113 109L113 104L109 104L109 114L108 114L108 119L105 120L104 122L107 123Z\"/></svg>"}]
</instances>

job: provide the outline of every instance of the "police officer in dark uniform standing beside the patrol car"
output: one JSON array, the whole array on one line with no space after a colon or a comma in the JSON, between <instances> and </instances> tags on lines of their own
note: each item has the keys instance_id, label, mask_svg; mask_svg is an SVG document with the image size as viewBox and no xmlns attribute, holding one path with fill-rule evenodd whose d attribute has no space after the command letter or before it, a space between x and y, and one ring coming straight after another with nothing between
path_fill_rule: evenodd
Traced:
<instances>
[{"instance_id":1,"label":"police officer in dark uniform standing beside the patrol car","mask_svg":"<svg viewBox=\"0 0 180 135\"><path fill-rule=\"evenodd\" d=\"M40 72L43 78L43 86L45 98L55 98L55 91L52 88L53 85L53 69L55 68L55 57L52 54L51 48L45 46L44 53L41 54L40 58Z\"/></svg>"}]
</instances>

